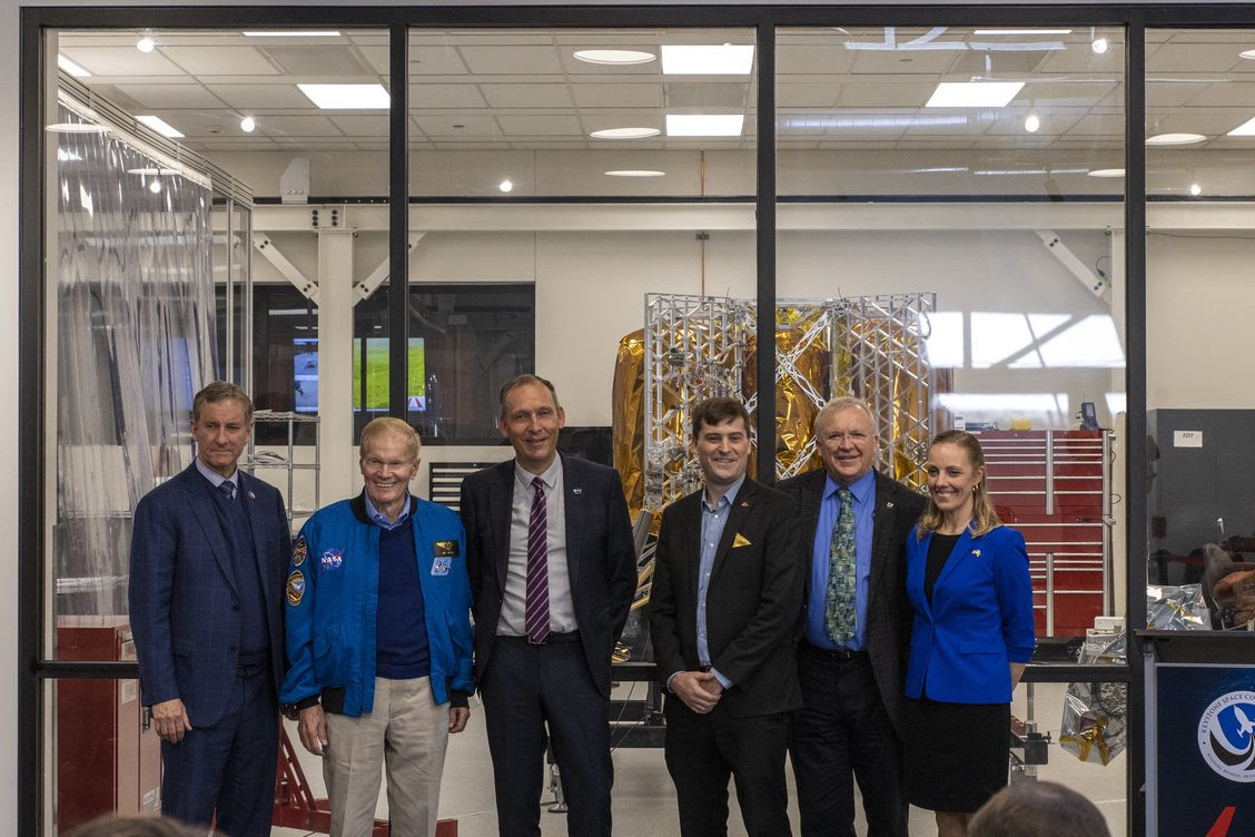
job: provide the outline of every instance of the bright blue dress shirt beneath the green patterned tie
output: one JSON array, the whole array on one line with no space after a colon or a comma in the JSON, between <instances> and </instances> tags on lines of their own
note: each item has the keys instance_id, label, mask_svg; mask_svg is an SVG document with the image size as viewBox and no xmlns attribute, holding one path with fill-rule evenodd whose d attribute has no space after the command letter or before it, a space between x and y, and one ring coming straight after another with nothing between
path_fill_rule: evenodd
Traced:
<instances>
[{"instance_id":1,"label":"bright blue dress shirt beneath the green patterned tie","mask_svg":"<svg viewBox=\"0 0 1255 837\"><path fill-rule=\"evenodd\" d=\"M823 626L828 596L828 552L832 543L832 527L841 513L841 498L837 492L841 483L828 474L823 483L823 501L820 503L820 522L814 527L814 547L811 557L811 595L806 602L806 641L816 648L830 651L843 649L861 651L867 635L867 587L871 578L871 535L873 513L876 511L876 472L868 471L850 486L855 504L855 635L845 645L837 645L828 639Z\"/></svg>"}]
</instances>

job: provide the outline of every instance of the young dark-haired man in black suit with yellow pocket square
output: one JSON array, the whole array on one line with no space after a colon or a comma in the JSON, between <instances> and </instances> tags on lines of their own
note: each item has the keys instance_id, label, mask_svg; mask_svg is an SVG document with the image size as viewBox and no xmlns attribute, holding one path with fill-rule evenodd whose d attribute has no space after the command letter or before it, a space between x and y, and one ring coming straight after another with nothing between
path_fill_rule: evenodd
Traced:
<instances>
[{"instance_id":1,"label":"young dark-haired man in black suit with yellow pocket square","mask_svg":"<svg viewBox=\"0 0 1255 837\"><path fill-rule=\"evenodd\" d=\"M684 837L723 837L728 778L750 837L787 837L784 753L802 705L796 637L806 555L794 502L745 476L749 414L693 412L703 488L663 512L649 625L666 686L666 768Z\"/></svg>"}]
</instances>

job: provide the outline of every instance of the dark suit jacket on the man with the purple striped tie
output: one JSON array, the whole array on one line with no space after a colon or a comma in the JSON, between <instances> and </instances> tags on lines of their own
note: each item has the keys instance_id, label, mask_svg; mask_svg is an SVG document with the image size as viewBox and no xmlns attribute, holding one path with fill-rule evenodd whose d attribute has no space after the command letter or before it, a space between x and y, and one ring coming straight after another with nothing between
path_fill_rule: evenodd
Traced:
<instances>
[{"instance_id":1,"label":"dark suit jacket on the man with the purple striped tie","mask_svg":"<svg viewBox=\"0 0 1255 837\"><path fill-rule=\"evenodd\" d=\"M474 676L492 658L510 563L515 461L462 481L462 525L474 604ZM614 468L562 456L566 562L575 619L592 680L610 696L610 654L636 592L636 550L622 483Z\"/></svg>"}]
</instances>

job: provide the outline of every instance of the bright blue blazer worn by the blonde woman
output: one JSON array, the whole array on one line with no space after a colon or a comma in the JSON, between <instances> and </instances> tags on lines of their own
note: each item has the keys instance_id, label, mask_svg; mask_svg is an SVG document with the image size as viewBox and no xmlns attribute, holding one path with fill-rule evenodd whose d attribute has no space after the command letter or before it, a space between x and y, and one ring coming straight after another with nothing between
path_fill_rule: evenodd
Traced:
<instances>
[{"instance_id":1,"label":"bright blue blazer worn by the blonde woman","mask_svg":"<svg viewBox=\"0 0 1255 837\"><path fill-rule=\"evenodd\" d=\"M1010 703L1010 663L1033 656L1033 584L1024 537L1000 526L965 531L924 595L932 533L906 538L906 595L915 607L906 696L948 703Z\"/></svg>"}]
</instances>

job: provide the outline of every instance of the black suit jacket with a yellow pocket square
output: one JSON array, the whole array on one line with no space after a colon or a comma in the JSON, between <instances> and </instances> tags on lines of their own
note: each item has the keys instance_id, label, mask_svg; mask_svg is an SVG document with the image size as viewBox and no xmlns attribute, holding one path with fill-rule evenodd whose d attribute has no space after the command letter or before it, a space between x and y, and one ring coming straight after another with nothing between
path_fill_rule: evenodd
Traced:
<instances>
[{"instance_id":1,"label":"black suit jacket with a yellow pocket square","mask_svg":"<svg viewBox=\"0 0 1255 837\"><path fill-rule=\"evenodd\" d=\"M700 666L697 645L702 496L663 511L649 629L663 683ZM802 705L797 630L806 553L791 497L745 478L732 504L707 587L710 664L732 681L719 705L733 717Z\"/></svg>"}]
</instances>

